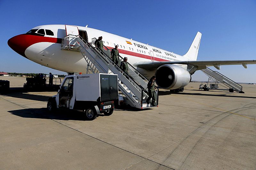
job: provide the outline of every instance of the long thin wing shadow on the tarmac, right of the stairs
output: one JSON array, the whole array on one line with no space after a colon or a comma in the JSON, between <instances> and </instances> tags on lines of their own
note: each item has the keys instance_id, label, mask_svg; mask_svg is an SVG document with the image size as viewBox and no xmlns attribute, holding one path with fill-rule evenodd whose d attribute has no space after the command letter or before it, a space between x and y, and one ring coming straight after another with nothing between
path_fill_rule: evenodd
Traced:
<instances>
[{"instance_id":1,"label":"long thin wing shadow on the tarmac, right of the stairs","mask_svg":"<svg viewBox=\"0 0 256 170\"><path fill-rule=\"evenodd\" d=\"M198 91L198 90L197 90ZM226 92L227 93L227 92ZM256 97L251 97L251 96L231 96L231 95L227 95L227 94L220 94L220 95L216 95L216 94L205 94L205 93L184 93L184 92L169 92L169 91L159 91L159 96L164 96L164 95L170 95L170 94L177 94L177 95L195 95L195 96L219 96L219 97L240 97L240 98L252 98L252 99L256 99Z\"/></svg>"}]
</instances>

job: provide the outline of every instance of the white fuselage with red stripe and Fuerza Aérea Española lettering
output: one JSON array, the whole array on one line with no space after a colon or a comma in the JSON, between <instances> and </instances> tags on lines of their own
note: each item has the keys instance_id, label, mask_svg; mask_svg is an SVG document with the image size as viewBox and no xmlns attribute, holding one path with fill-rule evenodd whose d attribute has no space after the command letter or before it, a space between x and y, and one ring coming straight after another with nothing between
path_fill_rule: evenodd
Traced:
<instances>
[{"instance_id":1,"label":"white fuselage with red stripe and Fuerza A\u00e9rea Espa\u00f1ola lettering","mask_svg":"<svg viewBox=\"0 0 256 170\"><path fill-rule=\"evenodd\" d=\"M108 48L114 48L118 45L119 54L122 57L127 57L130 64L139 61L184 61L188 60L178 54L154 47L147 44L120 37L115 34L96 30L93 28L77 26L78 30L87 32L88 41L99 36L103 37L103 44ZM32 60L40 65L57 69L68 73L86 73L86 65L83 55L80 52L61 50L61 39L67 35L65 25L42 25L33 29L51 30L54 35L33 36L42 40L37 40L33 44L31 42L26 50L25 55L29 60ZM56 40L57 39L57 40ZM56 42L57 41L57 42ZM154 71L140 69L140 72L145 76L151 76Z\"/></svg>"}]
</instances>

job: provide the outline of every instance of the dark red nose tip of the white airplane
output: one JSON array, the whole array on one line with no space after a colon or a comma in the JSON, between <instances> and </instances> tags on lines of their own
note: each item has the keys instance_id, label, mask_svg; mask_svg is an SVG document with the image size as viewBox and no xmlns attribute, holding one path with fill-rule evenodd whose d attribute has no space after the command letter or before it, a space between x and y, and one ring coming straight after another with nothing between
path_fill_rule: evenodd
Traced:
<instances>
[{"instance_id":1,"label":"dark red nose tip of the white airplane","mask_svg":"<svg viewBox=\"0 0 256 170\"><path fill-rule=\"evenodd\" d=\"M16 35L9 39L8 46L10 46L16 53L26 57L25 50L27 49L27 46L24 34Z\"/></svg>"}]
</instances>

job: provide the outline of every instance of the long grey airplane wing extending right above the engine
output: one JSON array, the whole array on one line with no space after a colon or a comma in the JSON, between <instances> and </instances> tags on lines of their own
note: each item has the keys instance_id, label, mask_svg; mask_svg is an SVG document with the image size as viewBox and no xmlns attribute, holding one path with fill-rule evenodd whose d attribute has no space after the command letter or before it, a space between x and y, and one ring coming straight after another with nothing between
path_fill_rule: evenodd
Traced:
<instances>
[{"instance_id":1,"label":"long grey airplane wing extending right above the engine","mask_svg":"<svg viewBox=\"0 0 256 170\"><path fill-rule=\"evenodd\" d=\"M133 66L146 70L156 70L164 64L187 64L198 67L197 70L205 69L208 66L214 66L220 69L220 65L243 65L247 68L247 64L256 64L256 60L227 60L227 61L140 61L134 63Z\"/></svg>"}]
</instances>

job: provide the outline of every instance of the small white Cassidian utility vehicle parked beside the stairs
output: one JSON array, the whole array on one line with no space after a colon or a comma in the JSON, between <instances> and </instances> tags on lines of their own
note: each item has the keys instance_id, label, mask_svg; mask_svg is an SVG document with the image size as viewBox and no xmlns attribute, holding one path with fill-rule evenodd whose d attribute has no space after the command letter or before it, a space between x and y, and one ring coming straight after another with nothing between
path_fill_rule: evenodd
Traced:
<instances>
[{"instance_id":1,"label":"small white Cassidian utility vehicle parked beside the stairs","mask_svg":"<svg viewBox=\"0 0 256 170\"><path fill-rule=\"evenodd\" d=\"M48 99L47 109L83 110L87 120L94 120L99 113L111 115L116 100L116 74L67 75L57 95Z\"/></svg>"}]
</instances>

